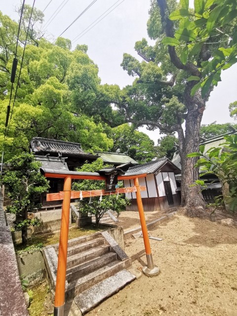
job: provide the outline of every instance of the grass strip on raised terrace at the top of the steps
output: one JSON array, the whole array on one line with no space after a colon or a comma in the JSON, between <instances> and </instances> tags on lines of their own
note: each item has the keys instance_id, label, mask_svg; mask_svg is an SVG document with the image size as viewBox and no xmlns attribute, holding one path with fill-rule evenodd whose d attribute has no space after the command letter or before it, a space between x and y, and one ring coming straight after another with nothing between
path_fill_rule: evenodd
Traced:
<instances>
[{"instance_id":1,"label":"grass strip on raised terrace at the top of the steps","mask_svg":"<svg viewBox=\"0 0 237 316\"><path fill-rule=\"evenodd\" d=\"M84 226L83 228L72 227L69 229L68 239L91 235L98 231L101 231L101 229L95 228L93 225ZM60 231L56 233L33 235L32 238L28 239L28 244L26 246L22 244L15 244L15 251L17 254L21 254L23 252L40 250L42 247L58 243L59 236Z\"/></svg>"}]
</instances>

